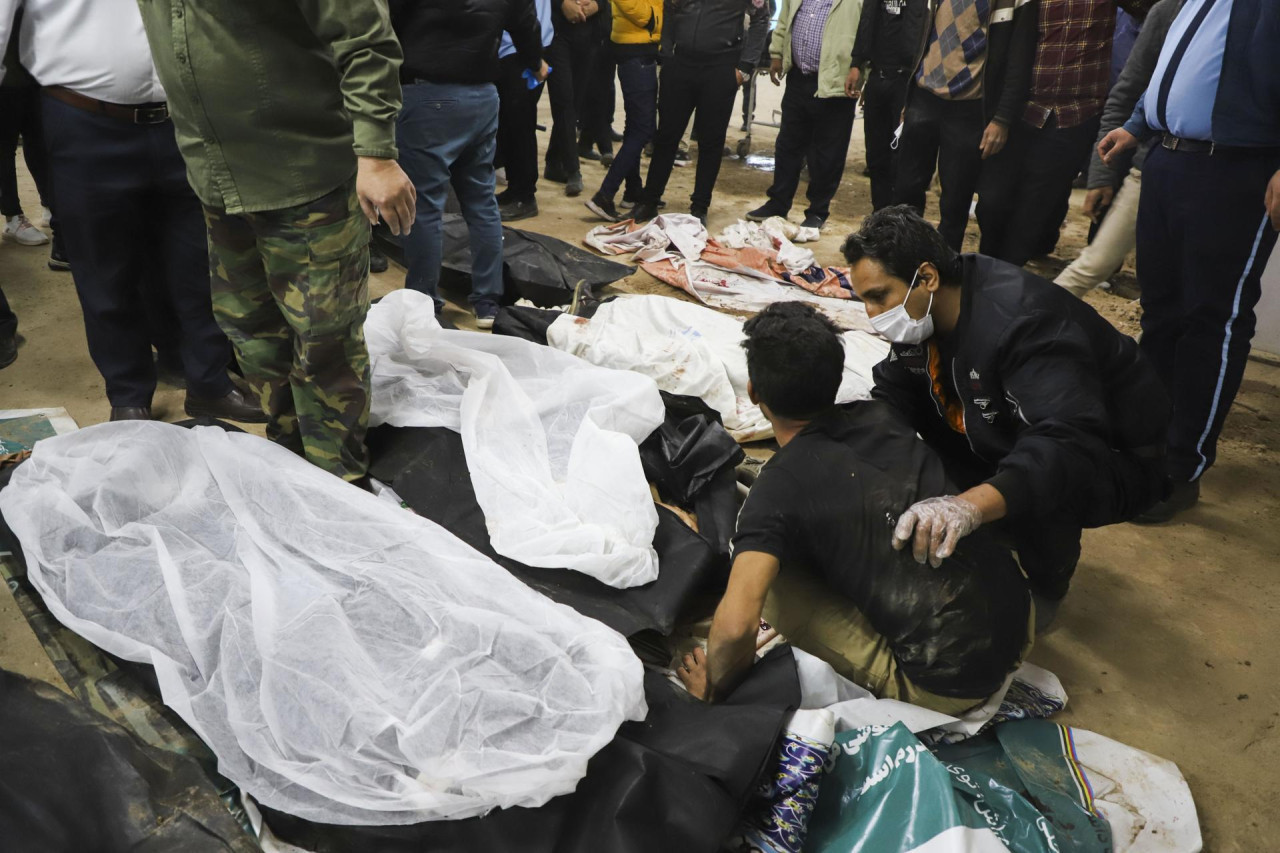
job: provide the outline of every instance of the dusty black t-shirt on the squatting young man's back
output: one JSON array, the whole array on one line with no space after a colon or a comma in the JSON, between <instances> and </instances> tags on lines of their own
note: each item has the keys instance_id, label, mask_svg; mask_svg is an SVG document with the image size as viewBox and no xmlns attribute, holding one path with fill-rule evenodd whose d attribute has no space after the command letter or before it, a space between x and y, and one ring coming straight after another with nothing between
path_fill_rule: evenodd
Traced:
<instances>
[{"instance_id":1,"label":"dusty black t-shirt on the squatting young man's back","mask_svg":"<svg viewBox=\"0 0 1280 853\"><path fill-rule=\"evenodd\" d=\"M983 530L942 566L893 551L897 517L954 494L942 461L890 405L837 406L765 464L739 515L733 553L804 566L852 601L915 684L940 695L995 692L1027 640L1030 594Z\"/></svg>"}]
</instances>

